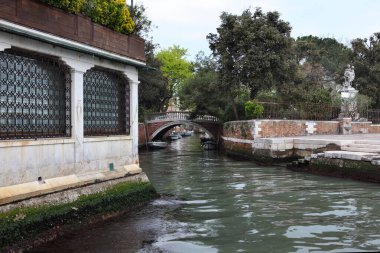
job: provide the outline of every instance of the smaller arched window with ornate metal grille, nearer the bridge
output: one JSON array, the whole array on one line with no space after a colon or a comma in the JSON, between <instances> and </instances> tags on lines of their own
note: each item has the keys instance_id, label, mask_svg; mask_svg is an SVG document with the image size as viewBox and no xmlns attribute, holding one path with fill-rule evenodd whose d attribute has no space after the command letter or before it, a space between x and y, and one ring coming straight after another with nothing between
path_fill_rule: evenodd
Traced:
<instances>
[{"instance_id":1,"label":"smaller arched window with ornate metal grille, nearer the bridge","mask_svg":"<svg viewBox=\"0 0 380 253\"><path fill-rule=\"evenodd\" d=\"M95 67L84 74L84 134L126 135L129 123L129 84L119 72Z\"/></svg>"}]
</instances>

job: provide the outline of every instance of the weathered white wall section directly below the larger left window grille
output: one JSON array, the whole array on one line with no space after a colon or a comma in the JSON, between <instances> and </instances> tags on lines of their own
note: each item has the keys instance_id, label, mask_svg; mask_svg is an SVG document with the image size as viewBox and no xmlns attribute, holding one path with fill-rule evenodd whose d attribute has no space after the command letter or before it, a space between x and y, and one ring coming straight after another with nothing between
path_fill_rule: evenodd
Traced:
<instances>
[{"instance_id":1,"label":"weathered white wall section directly below the larger left window grille","mask_svg":"<svg viewBox=\"0 0 380 253\"><path fill-rule=\"evenodd\" d=\"M74 174L74 140L0 141L0 161L0 187Z\"/></svg>"}]
</instances>

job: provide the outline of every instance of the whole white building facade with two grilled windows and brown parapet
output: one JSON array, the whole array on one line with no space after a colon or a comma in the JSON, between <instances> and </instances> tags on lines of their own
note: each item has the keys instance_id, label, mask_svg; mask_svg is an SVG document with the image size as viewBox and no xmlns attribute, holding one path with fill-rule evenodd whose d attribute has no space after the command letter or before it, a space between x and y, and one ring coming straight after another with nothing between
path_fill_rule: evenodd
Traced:
<instances>
[{"instance_id":1,"label":"whole white building facade with two grilled windows and brown parapet","mask_svg":"<svg viewBox=\"0 0 380 253\"><path fill-rule=\"evenodd\" d=\"M0 10L0 204L141 171L137 99L144 42L107 29L99 35L93 24L90 39L81 41L78 18L46 6L28 27L20 12L30 4L36 3L11 1ZM44 15L57 13L67 17L53 23L77 22L73 37L44 27ZM111 35L129 44L118 52L92 43L103 36L109 44Z\"/></svg>"}]
</instances>

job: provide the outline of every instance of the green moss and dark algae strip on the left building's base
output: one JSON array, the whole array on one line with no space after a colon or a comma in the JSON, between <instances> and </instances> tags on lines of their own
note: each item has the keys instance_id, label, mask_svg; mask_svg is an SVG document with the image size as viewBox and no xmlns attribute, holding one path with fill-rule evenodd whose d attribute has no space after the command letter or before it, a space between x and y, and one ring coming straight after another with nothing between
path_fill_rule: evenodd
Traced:
<instances>
[{"instance_id":1,"label":"green moss and dark algae strip on the left building's base","mask_svg":"<svg viewBox=\"0 0 380 253\"><path fill-rule=\"evenodd\" d=\"M21 240L57 226L83 223L93 215L131 208L157 193L150 183L119 183L109 189L83 195L71 203L17 208L0 214L0 251Z\"/></svg>"}]
</instances>

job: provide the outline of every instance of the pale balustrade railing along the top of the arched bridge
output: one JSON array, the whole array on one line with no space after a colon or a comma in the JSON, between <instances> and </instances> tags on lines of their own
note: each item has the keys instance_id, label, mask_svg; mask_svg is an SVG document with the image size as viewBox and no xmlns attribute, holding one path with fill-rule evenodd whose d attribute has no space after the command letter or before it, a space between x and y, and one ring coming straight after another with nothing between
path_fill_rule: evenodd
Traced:
<instances>
[{"instance_id":1,"label":"pale balustrade railing along the top of the arched bridge","mask_svg":"<svg viewBox=\"0 0 380 253\"><path fill-rule=\"evenodd\" d=\"M171 120L191 120L191 121L212 121L219 119L211 115L192 115L189 111L157 112L145 116L146 121L171 121Z\"/></svg>"}]
</instances>

